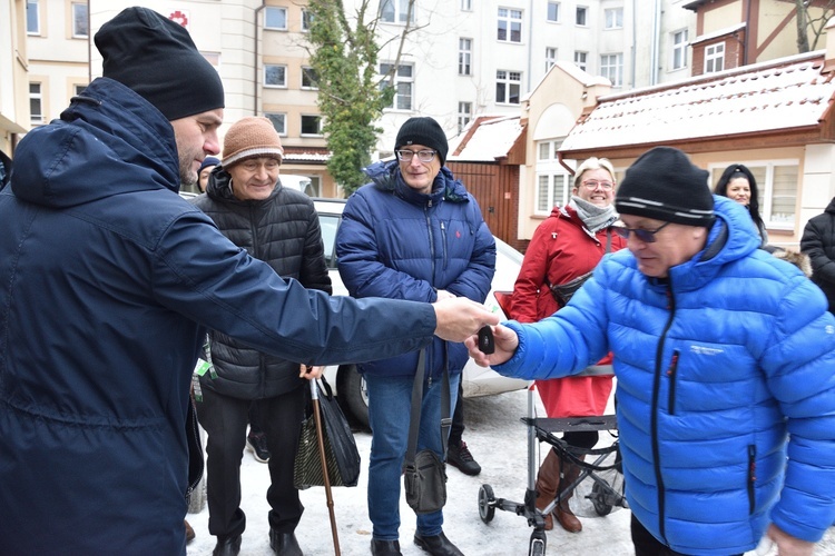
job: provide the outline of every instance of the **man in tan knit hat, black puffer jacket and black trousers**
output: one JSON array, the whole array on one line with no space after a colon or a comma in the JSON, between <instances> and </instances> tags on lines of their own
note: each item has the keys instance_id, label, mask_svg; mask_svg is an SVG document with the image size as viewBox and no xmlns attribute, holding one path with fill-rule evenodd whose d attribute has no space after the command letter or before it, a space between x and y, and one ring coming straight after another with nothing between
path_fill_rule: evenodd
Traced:
<instances>
[{"instance_id":1,"label":"man in tan knit hat, black puffer jacket and black trousers","mask_svg":"<svg viewBox=\"0 0 835 556\"><path fill-rule=\"evenodd\" d=\"M212 173L206 195L195 205L220 231L283 278L331 294L322 234L313 201L278 180L284 149L266 118L243 118L224 139L222 169ZM209 331L214 376L200 377L197 416L208 433L209 533L217 536L215 554L236 554L246 517L240 509L240 457L244 443L257 455L263 427L268 449L271 485L269 545L278 555L298 556L294 530L304 507L293 486L293 461L304 413L304 378L323 367L297 363L253 349L220 332ZM247 417L252 414L247 437Z\"/></svg>"}]
</instances>

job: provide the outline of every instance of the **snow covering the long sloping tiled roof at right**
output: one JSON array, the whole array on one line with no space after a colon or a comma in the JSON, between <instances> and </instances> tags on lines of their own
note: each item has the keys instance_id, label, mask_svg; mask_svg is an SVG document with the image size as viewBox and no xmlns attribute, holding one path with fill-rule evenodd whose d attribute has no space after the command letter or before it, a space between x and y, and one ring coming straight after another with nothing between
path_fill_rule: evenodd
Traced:
<instances>
[{"instance_id":1,"label":"snow covering the long sloping tiled roof at right","mask_svg":"<svg viewBox=\"0 0 835 556\"><path fill-rule=\"evenodd\" d=\"M817 126L835 93L833 76L822 75L822 68L818 52L793 57L789 63L784 59L699 77L676 87L601 97L560 150Z\"/></svg>"}]
</instances>

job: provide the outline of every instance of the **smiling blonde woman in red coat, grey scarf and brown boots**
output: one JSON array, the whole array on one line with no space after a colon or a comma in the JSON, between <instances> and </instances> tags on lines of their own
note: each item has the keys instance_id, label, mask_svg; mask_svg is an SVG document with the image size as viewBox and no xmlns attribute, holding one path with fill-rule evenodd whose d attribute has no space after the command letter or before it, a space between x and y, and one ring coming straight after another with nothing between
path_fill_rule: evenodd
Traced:
<instances>
[{"instance_id":1,"label":"smiling blonde woman in red coat, grey scarf and brown boots","mask_svg":"<svg viewBox=\"0 0 835 556\"><path fill-rule=\"evenodd\" d=\"M574 176L571 200L566 207L554 207L551 215L533 232L524 254L519 278L513 287L511 317L520 322L534 322L553 315L571 294L590 276L607 252L626 247L626 239L611 230L618 219L615 200L615 169L605 158L589 158ZM599 365L610 364L610 356ZM602 415L611 393L611 376L567 377L537 380L537 390L548 417L584 417ZM569 446L592 448L598 434L570 431L563 435ZM549 450L537 477L537 507L544 509L580 474L580 468L561 460ZM582 530L582 524L571 513L569 496L562 498L552 515L562 528L571 533ZM553 528L551 515L546 516L546 530Z\"/></svg>"}]
</instances>

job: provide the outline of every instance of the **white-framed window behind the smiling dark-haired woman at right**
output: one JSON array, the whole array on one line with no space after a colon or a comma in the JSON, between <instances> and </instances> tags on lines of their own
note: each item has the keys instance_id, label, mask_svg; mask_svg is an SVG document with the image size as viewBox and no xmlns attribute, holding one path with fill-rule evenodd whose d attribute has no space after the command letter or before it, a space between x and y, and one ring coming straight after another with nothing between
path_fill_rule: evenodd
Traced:
<instances>
[{"instance_id":1,"label":"white-framed window behind the smiling dark-haired woman at right","mask_svg":"<svg viewBox=\"0 0 835 556\"><path fill-rule=\"evenodd\" d=\"M800 198L800 161L796 158L786 158L777 160L750 160L739 161L745 165L754 175L757 180L757 189L759 190L759 215L763 217L763 222L769 230L787 230L794 231L798 218L797 202ZM727 165L708 165L708 171L710 171L710 179L713 183L718 181L719 176L725 170ZM797 179L794 183L794 195L782 195L779 197L792 199L790 205L794 207L793 214L775 215L774 206L777 199L775 192L775 175L779 172L779 169L788 169L794 173Z\"/></svg>"}]
</instances>

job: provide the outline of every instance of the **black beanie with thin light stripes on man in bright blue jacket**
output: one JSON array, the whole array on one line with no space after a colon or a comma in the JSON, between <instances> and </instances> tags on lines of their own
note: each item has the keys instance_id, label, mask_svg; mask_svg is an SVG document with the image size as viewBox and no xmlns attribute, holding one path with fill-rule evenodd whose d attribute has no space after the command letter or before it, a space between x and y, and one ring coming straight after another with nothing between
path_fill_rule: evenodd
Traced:
<instances>
[{"instance_id":1,"label":"black beanie with thin light stripes on man in bright blue jacket","mask_svg":"<svg viewBox=\"0 0 835 556\"><path fill-rule=\"evenodd\" d=\"M709 227L714 197L709 173L671 147L656 147L636 160L618 186L615 209L665 222Z\"/></svg>"}]
</instances>

